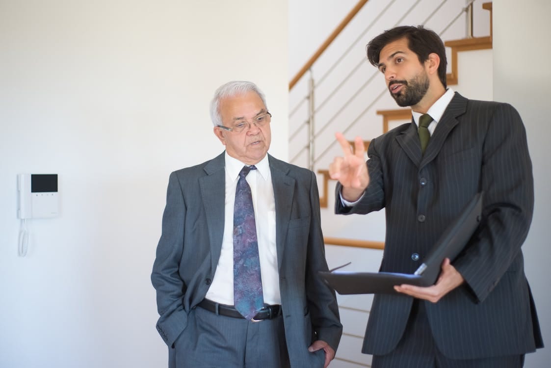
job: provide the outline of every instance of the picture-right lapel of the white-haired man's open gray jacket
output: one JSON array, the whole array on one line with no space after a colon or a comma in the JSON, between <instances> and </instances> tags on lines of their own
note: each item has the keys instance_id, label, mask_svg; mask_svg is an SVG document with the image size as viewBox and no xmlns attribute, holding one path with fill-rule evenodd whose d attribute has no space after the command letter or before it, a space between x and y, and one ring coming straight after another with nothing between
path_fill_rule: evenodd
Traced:
<instances>
[{"instance_id":1,"label":"picture-right lapel of the white-haired man's open gray jacket","mask_svg":"<svg viewBox=\"0 0 551 368\"><path fill-rule=\"evenodd\" d=\"M289 166L283 163L283 161L274 159L270 155L268 155L268 160L272 174L274 201L276 202L276 250L278 268L280 269L285 243L287 242L287 229L293 204L295 179L287 175Z\"/></svg>"}]
</instances>

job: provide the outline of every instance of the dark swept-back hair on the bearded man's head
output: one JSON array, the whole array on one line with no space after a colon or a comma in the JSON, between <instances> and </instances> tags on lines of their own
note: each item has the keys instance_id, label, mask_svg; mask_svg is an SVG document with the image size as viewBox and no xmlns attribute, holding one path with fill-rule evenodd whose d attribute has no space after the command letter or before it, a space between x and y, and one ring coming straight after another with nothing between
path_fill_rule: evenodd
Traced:
<instances>
[{"instance_id":1,"label":"dark swept-back hair on the bearded man's head","mask_svg":"<svg viewBox=\"0 0 551 368\"><path fill-rule=\"evenodd\" d=\"M419 58L419 62L423 63L429 58L430 53L436 53L440 57L440 65L438 66L438 77L440 82L446 88L446 49L444 42L440 37L430 29L424 28L422 25L417 27L411 25L403 25L384 31L379 36L375 37L365 47L368 53L368 60L371 64L379 67L379 55L381 50L390 42L397 41L402 38L408 40L409 50L413 51Z\"/></svg>"}]
</instances>

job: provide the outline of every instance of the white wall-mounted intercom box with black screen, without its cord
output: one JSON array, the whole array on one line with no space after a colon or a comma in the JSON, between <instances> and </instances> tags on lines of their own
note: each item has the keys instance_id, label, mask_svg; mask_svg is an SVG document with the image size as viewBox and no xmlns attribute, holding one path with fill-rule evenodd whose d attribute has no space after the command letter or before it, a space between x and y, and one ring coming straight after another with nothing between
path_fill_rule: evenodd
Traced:
<instances>
[{"instance_id":1,"label":"white wall-mounted intercom box with black screen, without its cord","mask_svg":"<svg viewBox=\"0 0 551 368\"><path fill-rule=\"evenodd\" d=\"M20 219L58 215L57 174L19 174L18 190Z\"/></svg>"}]
</instances>

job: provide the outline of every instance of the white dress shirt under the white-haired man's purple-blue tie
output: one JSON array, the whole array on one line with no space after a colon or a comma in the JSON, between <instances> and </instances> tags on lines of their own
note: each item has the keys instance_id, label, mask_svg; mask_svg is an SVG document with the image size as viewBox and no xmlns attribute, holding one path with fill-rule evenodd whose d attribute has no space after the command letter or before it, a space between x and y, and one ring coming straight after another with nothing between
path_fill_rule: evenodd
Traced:
<instances>
[{"instance_id":1,"label":"white dress shirt under the white-haired man's purple-blue tie","mask_svg":"<svg viewBox=\"0 0 551 368\"><path fill-rule=\"evenodd\" d=\"M241 161L225 154L225 209L222 251L213 281L206 298L220 304L234 305L234 203L239 172L245 166ZM246 177L251 187L252 205L255 209L256 236L264 303L281 304L279 272L276 251L276 201L272 174L266 155ZM212 193L219 196L221 193Z\"/></svg>"}]
</instances>

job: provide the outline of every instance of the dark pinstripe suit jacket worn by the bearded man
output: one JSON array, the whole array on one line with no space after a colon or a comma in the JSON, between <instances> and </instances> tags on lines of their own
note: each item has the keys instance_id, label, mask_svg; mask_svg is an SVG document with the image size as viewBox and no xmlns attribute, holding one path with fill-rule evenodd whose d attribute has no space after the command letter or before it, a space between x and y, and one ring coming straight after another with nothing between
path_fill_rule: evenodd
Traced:
<instances>
[{"instance_id":1,"label":"dark pinstripe suit jacket worn by the bearded man","mask_svg":"<svg viewBox=\"0 0 551 368\"><path fill-rule=\"evenodd\" d=\"M425 301L440 351L453 359L475 359L541 347L521 251L534 194L526 132L517 111L456 93L424 155L412 122L371 140L368 156L370 183L363 199L349 208L337 196L336 213L385 208L381 271L413 273L469 199L484 191L482 225L452 262L465 283L436 304ZM402 295L375 296L363 353L382 355L396 347L412 301Z\"/></svg>"}]
</instances>

